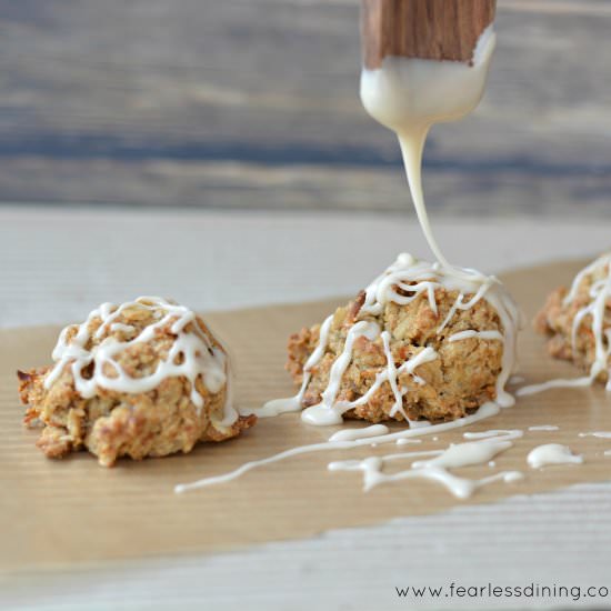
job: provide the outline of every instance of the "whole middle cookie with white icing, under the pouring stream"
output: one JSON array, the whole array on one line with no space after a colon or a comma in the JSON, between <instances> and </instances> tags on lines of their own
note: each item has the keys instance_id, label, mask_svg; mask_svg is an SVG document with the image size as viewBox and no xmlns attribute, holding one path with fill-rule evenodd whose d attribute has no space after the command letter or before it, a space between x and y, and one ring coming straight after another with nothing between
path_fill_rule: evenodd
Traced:
<instances>
[{"instance_id":1,"label":"whole middle cookie with white icing, under the pouring stream","mask_svg":"<svg viewBox=\"0 0 611 611\"><path fill-rule=\"evenodd\" d=\"M302 418L447 421L497 401L515 364L521 315L494 277L401 254L321 325L289 341L300 384L260 415L306 408Z\"/></svg>"}]
</instances>

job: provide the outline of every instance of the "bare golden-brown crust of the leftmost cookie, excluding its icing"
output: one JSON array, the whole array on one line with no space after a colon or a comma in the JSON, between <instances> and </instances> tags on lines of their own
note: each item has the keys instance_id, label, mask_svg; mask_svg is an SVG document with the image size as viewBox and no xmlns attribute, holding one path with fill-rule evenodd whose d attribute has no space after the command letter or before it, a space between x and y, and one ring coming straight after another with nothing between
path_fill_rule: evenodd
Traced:
<instances>
[{"instance_id":1,"label":"bare golden-brown crust of the leftmost cookie, excluding its icing","mask_svg":"<svg viewBox=\"0 0 611 611\"><path fill-rule=\"evenodd\" d=\"M86 348L93 349L108 338L118 341L131 340L148 325L159 322L159 313L139 308L126 309L114 320L113 329L103 329L101 318L90 321L90 340ZM156 330L147 342L138 342L117 355L124 372L140 378L154 372L160 360L168 358L174 342L170 319ZM222 350L200 318L186 325L184 331L199 325L211 345ZM124 327L122 327L124 325ZM130 327L131 329L128 329ZM69 343L78 325L71 325L66 333ZM111 365L106 373L113 375ZM94 397L83 398L76 388L70 363L47 389L44 380L51 367L19 371L19 394L29 405L24 423L28 427L41 424L38 448L49 458L61 458L69 452L88 449L98 457L100 464L112 465L120 457L136 460L146 457L163 457L176 452L190 452L200 441L223 441L252 427L254 415L239 417L232 424L223 425L227 383L220 391L210 392L199 375L197 391L203 399L198 409L191 400L191 382L184 377L163 379L154 389L141 393L127 393L97 388Z\"/></svg>"}]
</instances>

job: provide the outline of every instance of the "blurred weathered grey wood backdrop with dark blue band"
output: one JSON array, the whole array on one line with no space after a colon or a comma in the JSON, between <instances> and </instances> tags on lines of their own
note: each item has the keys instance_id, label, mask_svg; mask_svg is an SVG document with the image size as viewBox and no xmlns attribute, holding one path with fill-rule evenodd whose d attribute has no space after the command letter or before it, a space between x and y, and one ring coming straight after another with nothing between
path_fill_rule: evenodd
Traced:
<instances>
[{"instance_id":1,"label":"blurred weathered grey wood backdrop with dark blue band","mask_svg":"<svg viewBox=\"0 0 611 611\"><path fill-rule=\"evenodd\" d=\"M358 99L358 0L0 0L0 200L400 210ZM611 216L611 1L499 0L432 210Z\"/></svg>"}]
</instances>

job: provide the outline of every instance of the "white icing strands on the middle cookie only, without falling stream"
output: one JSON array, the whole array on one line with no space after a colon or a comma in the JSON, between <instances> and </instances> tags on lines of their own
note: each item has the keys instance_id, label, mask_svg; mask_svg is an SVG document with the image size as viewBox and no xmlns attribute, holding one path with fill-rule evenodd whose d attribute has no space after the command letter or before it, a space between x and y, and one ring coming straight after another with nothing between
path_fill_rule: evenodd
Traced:
<instances>
[{"instance_id":1,"label":"white icing strands on the middle cookie only, without falling stream","mask_svg":"<svg viewBox=\"0 0 611 611\"><path fill-rule=\"evenodd\" d=\"M513 397L505 391L504 387L515 367L515 342L518 329L522 320L515 303L504 290L503 286L493 276L484 276L475 270L467 268L444 268L439 263L418 261L411 254L403 253L365 289L364 302L360 313L365 315L379 315L383 312L384 306L389 302L408 304L421 294L427 297L431 310L437 312L435 290L438 289L457 291L459 293L450 313L439 327L438 333L443 330L457 311L468 310L481 299L487 300L498 312L503 327L503 333L497 330L468 330L454 333L450 337L449 341L479 338L484 341L503 342L502 369L497 379L497 402L501 407L512 405L514 403ZM398 292L398 290L401 290L401 292ZM467 302L464 301L465 294L472 294L471 299ZM328 347L331 323L332 317L329 317L321 327L317 348L306 362L303 381L299 392L289 399L277 399L266 403L258 410L258 415L277 415L284 411L298 411L301 409L303 394L311 379L311 370L322 359ZM345 370L350 365L353 344L359 337L365 337L370 341L380 338L382 340L387 364L385 368L378 373L365 394L354 401L338 400L337 395L340 383ZM405 389L400 388L398 379L400 374L408 373L412 375L418 383L424 383L424 380L417 374L417 368L435 360L439 355L433 348L425 347L410 360L397 367L390 351L390 333L388 331L381 331L380 327L374 322L365 320L355 322L347 334L342 353L335 359L331 367L329 383L327 389L322 392L320 403L307 408L302 412L302 419L310 424L339 424L342 422L342 414L345 411L367 403L378 389L383 383L388 382L394 395L391 415L400 412L411 427L415 425L417 423L410 421L407 413L403 411L403 395Z\"/></svg>"}]
</instances>

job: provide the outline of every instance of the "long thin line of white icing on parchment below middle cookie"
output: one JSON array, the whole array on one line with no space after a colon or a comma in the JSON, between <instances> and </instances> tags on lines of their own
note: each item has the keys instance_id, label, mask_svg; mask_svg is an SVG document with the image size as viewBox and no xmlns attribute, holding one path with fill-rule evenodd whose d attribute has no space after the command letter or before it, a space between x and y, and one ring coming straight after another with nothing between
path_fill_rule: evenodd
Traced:
<instances>
[{"instance_id":1,"label":"long thin line of white icing on parchment below middle cookie","mask_svg":"<svg viewBox=\"0 0 611 611\"><path fill-rule=\"evenodd\" d=\"M264 459L247 462L241 467L239 467L238 469L234 469L233 471L223 473L221 475L204 478L191 483L178 484L174 487L174 492L181 493L181 492L187 492L189 490L194 490L198 488L204 488L217 483L228 482L228 481L238 479L239 477L243 475L244 473L248 473L249 471L252 471L253 469L258 469L266 464L270 464L272 462L279 462L288 458L297 457L300 454L309 454L312 452L327 452L329 450L344 450L344 449L351 449L351 448L360 448L363 445L369 445L371 443L379 443L379 444L391 443L391 442L399 441L401 439L411 439L411 438L421 437L425 434L434 434L438 432L443 432L452 429L458 429L461 427L467 427L469 424L479 422L485 418L497 415L499 413L499 410L500 408L495 403L490 402L490 403L484 403L475 413L471 415L465 415L464 418L458 418L457 420L452 420L450 422L442 422L441 424L431 424L429 427L418 427L414 429L412 428L402 429L395 433L389 432L385 434L381 434L379 437L367 437L362 439L348 440L348 441L324 441L321 443L298 445L296 448L290 448L289 450L284 450L283 452L272 454L271 457L268 457Z\"/></svg>"}]
</instances>

